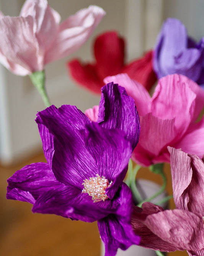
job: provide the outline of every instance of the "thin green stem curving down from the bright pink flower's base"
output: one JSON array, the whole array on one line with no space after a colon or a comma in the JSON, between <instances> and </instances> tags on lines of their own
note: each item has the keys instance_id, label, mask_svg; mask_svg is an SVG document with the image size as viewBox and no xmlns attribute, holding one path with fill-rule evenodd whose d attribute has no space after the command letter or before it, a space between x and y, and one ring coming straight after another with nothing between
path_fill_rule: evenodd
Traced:
<instances>
[{"instance_id":1,"label":"thin green stem curving down from the bright pink flower's base","mask_svg":"<svg viewBox=\"0 0 204 256\"><path fill-rule=\"evenodd\" d=\"M152 166L152 167L150 168L150 170L153 171L154 173L156 173L156 174L162 176L163 185L162 185L162 187L160 188L160 190L159 190L157 193L155 193L153 196L150 196L149 198L145 199L145 200L142 201L142 202L140 201L140 203L137 204L137 206L139 206L139 207L141 207L144 202L150 202L152 199L156 198L156 197L157 197L158 195L160 195L160 194L165 190L165 188L166 188L166 176L165 176L165 174L163 173L163 164L154 165L154 167Z\"/></svg>"}]
</instances>

